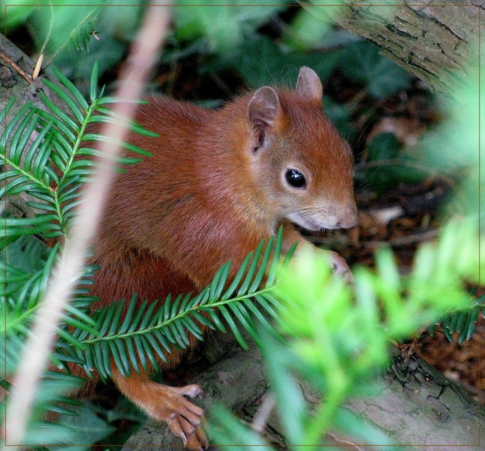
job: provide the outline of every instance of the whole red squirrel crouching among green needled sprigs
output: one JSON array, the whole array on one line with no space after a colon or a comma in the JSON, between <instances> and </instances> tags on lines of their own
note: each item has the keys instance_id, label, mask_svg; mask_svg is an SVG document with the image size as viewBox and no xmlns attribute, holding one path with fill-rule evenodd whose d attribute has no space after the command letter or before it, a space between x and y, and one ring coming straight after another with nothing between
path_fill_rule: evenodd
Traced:
<instances>
[{"instance_id":1,"label":"whole red squirrel crouching among green needled sprigs","mask_svg":"<svg viewBox=\"0 0 485 451\"><path fill-rule=\"evenodd\" d=\"M264 86L219 110L148 100L135 120L160 136L129 135L153 157L129 166L108 196L91 260L101 268L91 290L98 305L134 292L142 302L200 290L228 260L237 271L281 224L283 250L308 243L294 225L356 224L352 152L322 112L322 83L312 69L300 69L295 90ZM347 272L332 256L337 271ZM179 353L167 357L173 365ZM112 370L120 390L187 447L208 444L203 410L184 397L200 387Z\"/></svg>"}]
</instances>

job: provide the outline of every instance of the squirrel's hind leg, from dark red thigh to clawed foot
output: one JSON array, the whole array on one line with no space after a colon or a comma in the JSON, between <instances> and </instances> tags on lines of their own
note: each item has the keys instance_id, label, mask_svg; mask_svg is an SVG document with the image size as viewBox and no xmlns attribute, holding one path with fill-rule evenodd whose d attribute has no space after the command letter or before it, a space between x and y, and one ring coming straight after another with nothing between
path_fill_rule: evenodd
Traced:
<instances>
[{"instance_id":1,"label":"squirrel's hind leg, from dark red thigh to clawed foot","mask_svg":"<svg viewBox=\"0 0 485 451\"><path fill-rule=\"evenodd\" d=\"M111 254L93 259L98 264L96 280L91 292L100 298L93 308L107 305L111 299L129 299L133 292L138 294L138 306L144 300L153 301L165 297L169 292L189 292L194 284L176 273L164 258L156 257L143 251L126 251L121 256ZM137 306L137 307L138 307ZM200 326L203 329L203 325ZM190 337L191 345L197 341ZM167 355L167 366L178 361L178 351L173 349ZM159 362L160 363L160 362ZM163 365L161 365L163 369ZM131 368L129 377L123 377L113 359L111 361L112 378L119 390L137 404L151 418L168 423L172 433L180 437L191 451L201 451L207 445L200 422L204 411L184 396L194 398L203 396L203 391L196 385L186 387L168 387L150 379L149 372L137 373Z\"/></svg>"}]
</instances>

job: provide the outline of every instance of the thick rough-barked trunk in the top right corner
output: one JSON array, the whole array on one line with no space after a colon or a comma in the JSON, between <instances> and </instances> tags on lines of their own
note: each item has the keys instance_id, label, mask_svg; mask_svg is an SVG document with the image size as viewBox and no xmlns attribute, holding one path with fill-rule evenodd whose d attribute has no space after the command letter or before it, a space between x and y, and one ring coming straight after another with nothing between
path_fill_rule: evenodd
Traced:
<instances>
[{"instance_id":1,"label":"thick rough-barked trunk in the top right corner","mask_svg":"<svg viewBox=\"0 0 485 451\"><path fill-rule=\"evenodd\" d=\"M470 64L475 68L478 64L483 0L404 0L398 6L343 0L342 7L299 1L309 12L328 15L341 27L375 42L383 55L439 91L453 94Z\"/></svg>"}]
</instances>

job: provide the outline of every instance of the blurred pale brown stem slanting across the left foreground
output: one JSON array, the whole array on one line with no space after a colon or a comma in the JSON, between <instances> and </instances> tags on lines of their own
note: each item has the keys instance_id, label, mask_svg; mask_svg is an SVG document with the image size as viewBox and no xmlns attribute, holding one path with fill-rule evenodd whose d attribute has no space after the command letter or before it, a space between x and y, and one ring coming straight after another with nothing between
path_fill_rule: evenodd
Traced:
<instances>
[{"instance_id":1,"label":"blurred pale brown stem slanting across the left foreground","mask_svg":"<svg viewBox=\"0 0 485 451\"><path fill-rule=\"evenodd\" d=\"M100 161L86 187L72 233L66 239L64 252L53 272L38 317L33 324L14 379L15 390L6 416L5 444L13 445L12 451L22 446L32 403L39 380L49 360L56 325L76 286L88 246L96 232L104 199L114 175L113 165L119 152L119 143L127 132L127 123L135 113L134 102L142 94L158 49L169 26L167 7L155 7L152 2L146 10L143 27L133 43L129 58L122 71L116 97L122 103L115 104L115 112L123 117L116 123L106 124L103 134L108 141L100 144Z\"/></svg>"}]
</instances>

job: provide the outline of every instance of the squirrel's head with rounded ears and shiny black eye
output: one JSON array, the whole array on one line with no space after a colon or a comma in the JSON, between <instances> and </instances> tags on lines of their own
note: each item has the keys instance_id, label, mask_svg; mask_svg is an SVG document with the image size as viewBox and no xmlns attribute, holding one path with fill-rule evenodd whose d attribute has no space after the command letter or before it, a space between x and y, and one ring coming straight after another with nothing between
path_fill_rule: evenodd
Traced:
<instances>
[{"instance_id":1,"label":"squirrel's head with rounded ears and shiny black eye","mask_svg":"<svg viewBox=\"0 0 485 451\"><path fill-rule=\"evenodd\" d=\"M356 225L353 157L322 111L322 83L302 67L294 91L260 88L246 110L250 171L278 220L307 230Z\"/></svg>"}]
</instances>

